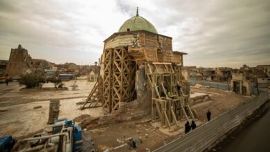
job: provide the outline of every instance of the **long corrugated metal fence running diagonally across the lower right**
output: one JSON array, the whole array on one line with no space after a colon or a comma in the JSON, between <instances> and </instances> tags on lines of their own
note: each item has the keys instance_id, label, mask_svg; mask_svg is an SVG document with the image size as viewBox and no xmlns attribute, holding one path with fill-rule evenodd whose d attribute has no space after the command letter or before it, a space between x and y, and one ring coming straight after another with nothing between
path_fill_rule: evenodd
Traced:
<instances>
[{"instance_id":1,"label":"long corrugated metal fence running diagonally across the lower right","mask_svg":"<svg viewBox=\"0 0 270 152\"><path fill-rule=\"evenodd\" d=\"M231 131L235 126L249 115L258 109L264 102L268 100L267 91L263 91L260 95L253 99L249 99L244 104L233 108L219 117L206 122L199 126L194 131L190 131L176 140L161 146L155 151L204 151L209 146L221 139L228 131Z\"/></svg>"}]
</instances>

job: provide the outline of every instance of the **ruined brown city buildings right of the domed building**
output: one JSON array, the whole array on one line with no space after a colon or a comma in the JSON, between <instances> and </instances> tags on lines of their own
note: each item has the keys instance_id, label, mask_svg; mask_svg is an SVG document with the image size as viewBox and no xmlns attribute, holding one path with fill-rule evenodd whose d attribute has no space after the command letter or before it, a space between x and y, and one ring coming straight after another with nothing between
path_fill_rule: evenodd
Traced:
<instances>
[{"instance_id":1,"label":"ruined brown city buildings right of the domed building","mask_svg":"<svg viewBox=\"0 0 270 152\"><path fill-rule=\"evenodd\" d=\"M243 65L239 69L183 66L181 72L183 79L225 83L228 90L242 95L256 95L257 88L267 88L270 84L270 65Z\"/></svg>"}]
</instances>

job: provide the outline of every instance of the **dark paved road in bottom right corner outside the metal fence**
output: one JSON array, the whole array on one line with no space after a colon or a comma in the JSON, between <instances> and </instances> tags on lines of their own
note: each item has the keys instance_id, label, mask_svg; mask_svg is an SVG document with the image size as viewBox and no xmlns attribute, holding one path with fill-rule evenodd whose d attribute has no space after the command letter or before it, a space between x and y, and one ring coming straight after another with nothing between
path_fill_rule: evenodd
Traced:
<instances>
[{"instance_id":1,"label":"dark paved road in bottom right corner outside the metal fence","mask_svg":"<svg viewBox=\"0 0 270 152\"><path fill-rule=\"evenodd\" d=\"M225 151L245 151L245 152L269 152L270 151L270 110L248 126L235 140L222 147Z\"/></svg>"}]
</instances>

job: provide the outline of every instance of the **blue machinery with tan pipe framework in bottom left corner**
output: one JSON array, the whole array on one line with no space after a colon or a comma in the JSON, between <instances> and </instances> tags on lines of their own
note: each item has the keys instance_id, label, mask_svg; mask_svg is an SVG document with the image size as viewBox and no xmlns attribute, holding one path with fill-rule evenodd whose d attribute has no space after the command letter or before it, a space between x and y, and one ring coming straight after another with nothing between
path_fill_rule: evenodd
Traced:
<instances>
[{"instance_id":1,"label":"blue machinery with tan pipe framework in bottom left corner","mask_svg":"<svg viewBox=\"0 0 270 152\"><path fill-rule=\"evenodd\" d=\"M0 138L0 151L82 151L82 128L66 118L55 120L42 133L15 143L11 135ZM13 141L13 142L12 142ZM14 144L15 143L15 144ZM13 146L14 145L14 146Z\"/></svg>"}]
</instances>

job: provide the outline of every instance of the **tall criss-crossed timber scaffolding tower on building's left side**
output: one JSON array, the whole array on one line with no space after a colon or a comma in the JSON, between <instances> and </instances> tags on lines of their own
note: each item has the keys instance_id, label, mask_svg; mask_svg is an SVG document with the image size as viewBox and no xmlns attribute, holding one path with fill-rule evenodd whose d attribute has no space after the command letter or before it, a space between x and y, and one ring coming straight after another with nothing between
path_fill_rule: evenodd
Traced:
<instances>
[{"instance_id":1,"label":"tall criss-crossed timber scaffolding tower on building's left side","mask_svg":"<svg viewBox=\"0 0 270 152\"><path fill-rule=\"evenodd\" d=\"M119 108L120 102L131 102L136 98L136 64L127 54L127 47L109 48L103 55L104 78L96 83L83 108L101 103L103 110L111 113Z\"/></svg>"}]
</instances>

